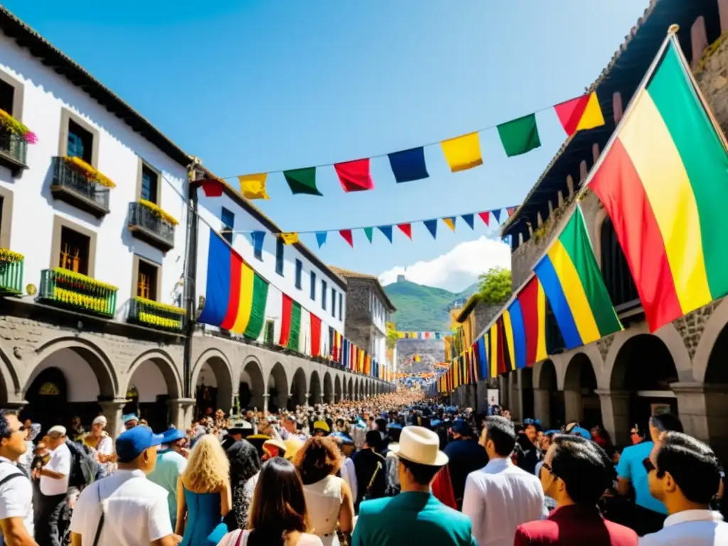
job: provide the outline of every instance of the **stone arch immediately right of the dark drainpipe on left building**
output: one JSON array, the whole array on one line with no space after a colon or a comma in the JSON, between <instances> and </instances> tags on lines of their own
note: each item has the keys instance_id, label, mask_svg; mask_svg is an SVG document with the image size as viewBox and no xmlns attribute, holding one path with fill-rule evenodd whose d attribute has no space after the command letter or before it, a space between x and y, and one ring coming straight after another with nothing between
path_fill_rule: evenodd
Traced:
<instances>
[{"instance_id":1,"label":"stone arch immediately right of the dark drainpipe on left building","mask_svg":"<svg viewBox=\"0 0 728 546\"><path fill-rule=\"evenodd\" d=\"M197 411L211 407L228 413L233 405L233 377L232 365L221 350L210 348L202 352L192 366L190 381L192 394L197 400ZM205 382L210 384L199 384ZM215 392L217 394L213 395Z\"/></svg>"}]
</instances>

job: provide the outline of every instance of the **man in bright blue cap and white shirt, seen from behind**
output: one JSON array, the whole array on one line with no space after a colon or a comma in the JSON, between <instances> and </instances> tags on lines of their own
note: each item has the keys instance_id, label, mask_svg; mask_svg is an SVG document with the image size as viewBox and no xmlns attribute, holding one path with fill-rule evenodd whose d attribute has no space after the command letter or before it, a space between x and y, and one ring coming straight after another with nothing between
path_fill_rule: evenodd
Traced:
<instances>
[{"instance_id":1,"label":"man in bright blue cap and white shirt, seen from behind","mask_svg":"<svg viewBox=\"0 0 728 546\"><path fill-rule=\"evenodd\" d=\"M71 517L71 544L175 546L165 488L146 478L157 463L165 435L133 427L116 438L119 467L87 486ZM141 524L140 524L141 523Z\"/></svg>"}]
</instances>

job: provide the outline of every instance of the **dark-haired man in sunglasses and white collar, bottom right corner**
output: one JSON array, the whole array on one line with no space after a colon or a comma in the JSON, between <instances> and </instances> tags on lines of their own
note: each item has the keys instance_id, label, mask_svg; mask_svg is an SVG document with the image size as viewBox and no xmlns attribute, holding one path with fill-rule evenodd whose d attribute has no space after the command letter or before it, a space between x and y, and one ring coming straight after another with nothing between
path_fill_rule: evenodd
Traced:
<instances>
[{"instance_id":1,"label":"dark-haired man in sunglasses and white collar, bottom right corner","mask_svg":"<svg viewBox=\"0 0 728 546\"><path fill-rule=\"evenodd\" d=\"M641 537L641 546L728 545L728 523L709 510L721 471L716 454L681 432L666 432L645 459L649 492L668 509L660 531Z\"/></svg>"}]
</instances>

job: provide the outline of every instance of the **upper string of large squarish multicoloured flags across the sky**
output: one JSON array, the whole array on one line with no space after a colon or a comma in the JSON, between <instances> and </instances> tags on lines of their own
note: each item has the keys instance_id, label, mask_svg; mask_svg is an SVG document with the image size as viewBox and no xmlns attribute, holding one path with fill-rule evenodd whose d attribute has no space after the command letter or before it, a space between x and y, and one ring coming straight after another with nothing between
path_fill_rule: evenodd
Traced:
<instances>
[{"instance_id":1,"label":"upper string of large squarish multicoloured flags across the sky","mask_svg":"<svg viewBox=\"0 0 728 546\"><path fill-rule=\"evenodd\" d=\"M495 129L498 131L500 141L507 157L514 157L537 149L541 146L536 114L547 110L555 111L566 135L571 137L581 130L593 129L604 125L604 114L596 92L582 95L555 106L542 108L532 114L512 119L510 122L485 127L469 132L455 138L424 144L414 148L394 151L389 154L379 154L363 159L354 159L339 163L317 165L289 170L271 170L266 173L235 175L222 178L223 180L237 179L243 197L246 199L270 199L266 184L268 175L282 173L291 193L294 195L323 196L317 186L317 170L333 167L345 193L354 191L370 191L374 189L371 175L371 159L386 156L389 167L397 183L414 182L430 177L430 170L424 159L424 149L439 144L443 151L451 173L472 169L483 165L483 156L480 153L480 133Z\"/></svg>"}]
</instances>

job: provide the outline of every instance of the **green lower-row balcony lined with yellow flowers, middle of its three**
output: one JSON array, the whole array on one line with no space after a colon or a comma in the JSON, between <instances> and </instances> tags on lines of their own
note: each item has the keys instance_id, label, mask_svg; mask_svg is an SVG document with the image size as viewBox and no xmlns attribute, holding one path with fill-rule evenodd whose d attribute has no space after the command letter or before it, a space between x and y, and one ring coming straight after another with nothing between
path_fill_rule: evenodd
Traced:
<instances>
[{"instance_id":1,"label":"green lower-row balcony lined with yellow flowers, middle of its three","mask_svg":"<svg viewBox=\"0 0 728 546\"><path fill-rule=\"evenodd\" d=\"M38 298L77 312L113 317L116 311L116 290L116 286L57 267L41 272Z\"/></svg>"}]
</instances>

